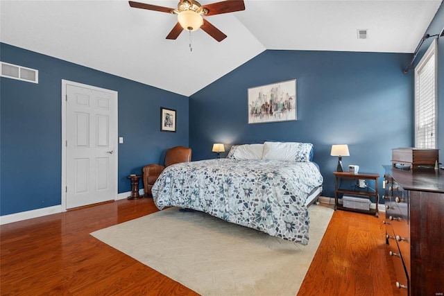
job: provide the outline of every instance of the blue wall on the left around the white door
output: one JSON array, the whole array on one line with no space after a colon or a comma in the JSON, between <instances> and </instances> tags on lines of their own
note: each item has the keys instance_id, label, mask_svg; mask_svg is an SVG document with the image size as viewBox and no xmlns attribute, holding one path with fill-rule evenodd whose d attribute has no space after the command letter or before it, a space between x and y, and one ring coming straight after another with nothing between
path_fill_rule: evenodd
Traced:
<instances>
[{"instance_id":1,"label":"blue wall on the left around the white door","mask_svg":"<svg viewBox=\"0 0 444 296\"><path fill-rule=\"evenodd\" d=\"M167 148L188 146L186 96L8 44L0 53L39 71L38 84L0 78L0 215L61 204L62 79L119 92L119 193L130 191L127 175L162 162ZM160 132L160 106L177 110L176 133Z\"/></svg>"}]
</instances>

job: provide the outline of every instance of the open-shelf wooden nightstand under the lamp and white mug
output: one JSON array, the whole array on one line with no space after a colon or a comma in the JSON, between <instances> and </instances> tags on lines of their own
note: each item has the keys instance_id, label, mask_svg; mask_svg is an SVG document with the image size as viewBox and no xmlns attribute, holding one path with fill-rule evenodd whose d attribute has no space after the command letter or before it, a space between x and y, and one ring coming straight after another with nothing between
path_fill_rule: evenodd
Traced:
<instances>
[{"instance_id":1,"label":"open-shelf wooden nightstand under the lamp and white mug","mask_svg":"<svg viewBox=\"0 0 444 296\"><path fill-rule=\"evenodd\" d=\"M377 173L349 173L349 172L334 172L334 210L336 209L342 209L345 211L355 211L358 213L364 213L364 214L370 214L375 215L376 217L379 217L379 211L377 209L377 206L379 204L379 194L377 190L377 179L379 178L379 174ZM345 189L341 187L341 181L342 180L355 180L355 186L352 186L350 189ZM375 182L375 189L370 190L371 187L368 186L368 183L366 182L366 187L361 188L357 185L359 180L370 180ZM339 184L339 185L338 185ZM341 195L341 197L339 197ZM347 202L356 204L359 203L359 199L363 199L364 202L367 200L367 198L370 198L372 196L375 197L376 200L376 209L363 209L360 207L344 207L344 204L339 204L339 198L343 198L343 195L351 195L350 200L345 200ZM344 200L343 200L344 202Z\"/></svg>"}]
</instances>

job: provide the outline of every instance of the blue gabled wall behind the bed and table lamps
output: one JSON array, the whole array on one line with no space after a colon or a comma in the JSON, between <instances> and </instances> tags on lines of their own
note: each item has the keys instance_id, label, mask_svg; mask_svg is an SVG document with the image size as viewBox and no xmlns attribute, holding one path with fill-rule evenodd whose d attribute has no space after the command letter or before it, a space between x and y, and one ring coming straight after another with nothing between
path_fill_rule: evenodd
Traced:
<instances>
[{"instance_id":1,"label":"blue gabled wall behind the bed and table lamps","mask_svg":"<svg viewBox=\"0 0 444 296\"><path fill-rule=\"evenodd\" d=\"M410 59L399 53L264 51L189 98L193 157L213 158L215 142L311 142L325 179L323 195L334 196L337 157L330 149L346 143L345 168L358 164L382 177L391 149L413 146L413 73L402 71ZM291 79L297 80L298 121L249 125L247 89Z\"/></svg>"}]
</instances>

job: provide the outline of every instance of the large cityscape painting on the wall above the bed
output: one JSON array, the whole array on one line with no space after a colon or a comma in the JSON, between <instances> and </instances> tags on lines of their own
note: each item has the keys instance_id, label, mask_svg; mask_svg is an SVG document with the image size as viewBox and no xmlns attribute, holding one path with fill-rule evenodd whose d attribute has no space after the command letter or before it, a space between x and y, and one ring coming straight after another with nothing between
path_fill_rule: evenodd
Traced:
<instances>
[{"instance_id":1,"label":"large cityscape painting on the wall above the bed","mask_svg":"<svg viewBox=\"0 0 444 296\"><path fill-rule=\"evenodd\" d=\"M296 79L248 89L248 123L297 120Z\"/></svg>"}]
</instances>

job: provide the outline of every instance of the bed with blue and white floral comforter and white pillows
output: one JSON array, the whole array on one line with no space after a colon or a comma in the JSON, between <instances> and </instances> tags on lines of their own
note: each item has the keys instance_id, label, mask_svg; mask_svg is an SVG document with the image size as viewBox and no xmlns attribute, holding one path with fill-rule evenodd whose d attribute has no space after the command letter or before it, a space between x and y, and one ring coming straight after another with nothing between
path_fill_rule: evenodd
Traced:
<instances>
[{"instance_id":1,"label":"bed with blue and white floral comforter and white pillows","mask_svg":"<svg viewBox=\"0 0 444 296\"><path fill-rule=\"evenodd\" d=\"M233 146L225 159L174 164L155 182L159 209L203 211L230 223L306 245L307 206L322 191L311 143Z\"/></svg>"}]
</instances>

